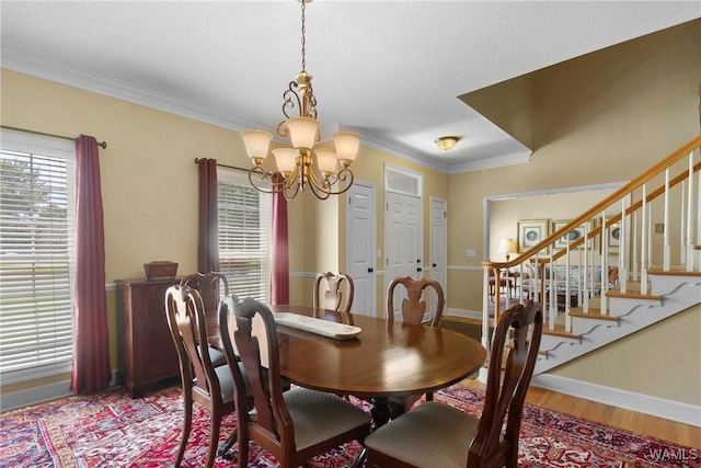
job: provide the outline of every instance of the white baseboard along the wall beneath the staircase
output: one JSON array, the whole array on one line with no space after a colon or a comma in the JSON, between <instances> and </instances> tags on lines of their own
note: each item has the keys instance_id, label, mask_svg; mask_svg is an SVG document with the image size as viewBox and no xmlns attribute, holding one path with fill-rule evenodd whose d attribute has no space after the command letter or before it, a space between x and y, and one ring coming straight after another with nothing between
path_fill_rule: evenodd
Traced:
<instances>
[{"instance_id":1,"label":"white baseboard along the wall beneath the staircase","mask_svg":"<svg viewBox=\"0 0 701 468\"><path fill-rule=\"evenodd\" d=\"M572 397L584 398L598 403L611 404L617 408L701 427L701 407L693 404L549 374L533 376L531 385Z\"/></svg>"}]
</instances>

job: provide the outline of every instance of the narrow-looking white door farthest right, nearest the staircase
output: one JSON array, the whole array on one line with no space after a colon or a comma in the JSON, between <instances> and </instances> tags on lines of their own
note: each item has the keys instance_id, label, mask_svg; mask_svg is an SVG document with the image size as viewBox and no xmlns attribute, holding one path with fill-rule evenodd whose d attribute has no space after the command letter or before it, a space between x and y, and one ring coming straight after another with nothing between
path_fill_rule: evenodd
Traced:
<instances>
[{"instance_id":1,"label":"narrow-looking white door farthest right, nearest the staircase","mask_svg":"<svg viewBox=\"0 0 701 468\"><path fill-rule=\"evenodd\" d=\"M430 198L430 277L443 287L448 300L448 202L443 198ZM433 289L432 289L433 290ZM436 294L432 293L428 310L435 310ZM446 304L447 306L447 304ZM445 312L445 309L444 309ZM432 312L433 313L433 312ZM430 317L433 319L433 315Z\"/></svg>"}]
</instances>

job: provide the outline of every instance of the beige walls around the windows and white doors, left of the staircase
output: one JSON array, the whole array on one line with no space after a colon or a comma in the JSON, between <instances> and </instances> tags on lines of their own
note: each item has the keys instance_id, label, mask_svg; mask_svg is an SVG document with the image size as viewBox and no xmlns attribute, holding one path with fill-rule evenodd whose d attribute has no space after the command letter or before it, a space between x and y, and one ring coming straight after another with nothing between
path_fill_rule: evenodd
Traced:
<instances>
[{"instance_id":1,"label":"beige walls around the windows and white doors, left of the staircase","mask_svg":"<svg viewBox=\"0 0 701 468\"><path fill-rule=\"evenodd\" d=\"M197 269L197 167L195 158L215 158L248 167L238 133L117 99L9 70L1 70L2 125L56 135L93 135L101 150L105 219L106 281L143 277L143 263L171 260L179 274ZM378 186L378 246L382 248L382 168L384 162L422 168L361 148L356 176ZM446 174L425 171L429 196L447 197ZM303 194L288 204L290 301L311 305L313 274L345 266L344 197L321 202ZM427 219L427 218L426 218ZM425 246L427 248L428 227ZM383 305L378 279L378 308ZM116 296L107 290L111 365L117 367ZM66 378L61 376L60 378ZM14 391L56 379L4 386Z\"/></svg>"}]
</instances>

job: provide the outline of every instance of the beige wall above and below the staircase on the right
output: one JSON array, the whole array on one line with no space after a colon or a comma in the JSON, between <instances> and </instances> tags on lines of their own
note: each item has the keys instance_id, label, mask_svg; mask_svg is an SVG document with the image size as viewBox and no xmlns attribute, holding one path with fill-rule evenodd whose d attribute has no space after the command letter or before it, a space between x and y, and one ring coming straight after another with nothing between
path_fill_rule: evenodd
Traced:
<instances>
[{"instance_id":1,"label":"beige wall above and below the staircase on the right","mask_svg":"<svg viewBox=\"0 0 701 468\"><path fill-rule=\"evenodd\" d=\"M450 178L450 263L479 265L485 196L630 180L689 141L699 133L700 79L701 20L536 72L531 161ZM494 115L509 105L498 87L487 90ZM475 247L478 256L466 258ZM481 274L451 272L448 306L481 310ZM698 406L700 323L697 306L551 373Z\"/></svg>"}]
</instances>

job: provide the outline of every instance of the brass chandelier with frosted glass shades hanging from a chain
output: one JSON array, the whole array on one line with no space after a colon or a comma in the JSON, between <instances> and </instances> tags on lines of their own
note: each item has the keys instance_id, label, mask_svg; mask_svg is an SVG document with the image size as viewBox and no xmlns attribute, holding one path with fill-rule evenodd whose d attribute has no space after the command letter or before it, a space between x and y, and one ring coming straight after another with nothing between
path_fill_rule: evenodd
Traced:
<instances>
[{"instance_id":1,"label":"brass chandelier with frosted glass shades hanging from a chain","mask_svg":"<svg viewBox=\"0 0 701 468\"><path fill-rule=\"evenodd\" d=\"M348 167L358 153L361 138L353 132L338 132L332 136L334 148L314 148L321 141L321 132L317 121L317 98L311 88L312 76L306 70L304 58L304 9L312 0L298 1L301 3L302 71L283 93L283 114L286 118L277 124L276 133L281 138L289 137L291 148L273 149L278 172L268 172L263 168L273 139L269 132L245 130L241 132L241 138L253 162L249 181L254 189L265 193L281 192L285 198L292 199L309 187L318 198L326 199L330 195L338 195L350 189L353 172ZM290 115L294 111L299 115Z\"/></svg>"}]
</instances>

